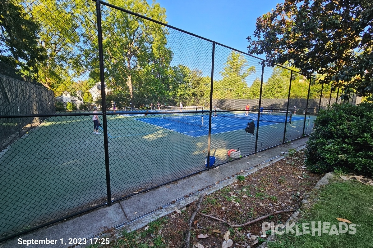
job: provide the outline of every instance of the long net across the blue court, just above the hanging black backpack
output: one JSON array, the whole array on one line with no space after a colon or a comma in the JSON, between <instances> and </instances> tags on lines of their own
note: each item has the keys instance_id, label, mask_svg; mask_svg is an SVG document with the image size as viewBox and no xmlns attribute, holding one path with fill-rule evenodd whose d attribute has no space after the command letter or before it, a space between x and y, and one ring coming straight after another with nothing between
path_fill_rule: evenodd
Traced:
<instances>
[{"instance_id":1,"label":"long net across the blue court, just above the hanging black backpack","mask_svg":"<svg viewBox=\"0 0 373 248\"><path fill-rule=\"evenodd\" d=\"M260 113L259 120L266 122L277 122L277 123L291 123L292 112L291 111L278 111L278 110L263 110L263 112L258 112L258 110L250 110L248 113L246 111L226 111L219 109L220 111L213 111L212 116L222 116L228 118L239 118L247 120L258 120L258 113ZM204 113L208 115L209 113Z\"/></svg>"}]
</instances>

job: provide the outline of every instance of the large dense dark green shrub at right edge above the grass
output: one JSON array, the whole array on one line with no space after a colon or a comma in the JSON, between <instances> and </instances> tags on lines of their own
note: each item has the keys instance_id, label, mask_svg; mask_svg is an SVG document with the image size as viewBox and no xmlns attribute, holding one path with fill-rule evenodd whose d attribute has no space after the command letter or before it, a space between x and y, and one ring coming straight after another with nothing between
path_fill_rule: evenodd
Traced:
<instances>
[{"instance_id":1,"label":"large dense dark green shrub at right edge above the grass","mask_svg":"<svg viewBox=\"0 0 373 248\"><path fill-rule=\"evenodd\" d=\"M334 104L320 111L307 141L306 166L373 175L373 103Z\"/></svg>"}]
</instances>

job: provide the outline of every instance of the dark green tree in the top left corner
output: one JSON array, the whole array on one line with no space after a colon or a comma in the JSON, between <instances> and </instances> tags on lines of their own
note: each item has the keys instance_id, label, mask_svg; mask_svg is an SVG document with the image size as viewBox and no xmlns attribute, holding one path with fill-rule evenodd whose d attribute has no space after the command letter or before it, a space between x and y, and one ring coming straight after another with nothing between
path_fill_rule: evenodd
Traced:
<instances>
[{"instance_id":1,"label":"dark green tree in the top left corner","mask_svg":"<svg viewBox=\"0 0 373 248\"><path fill-rule=\"evenodd\" d=\"M40 26L34 22L22 6L9 0L0 2L0 64L1 68L12 68L35 79L38 64L47 56L38 47Z\"/></svg>"}]
</instances>

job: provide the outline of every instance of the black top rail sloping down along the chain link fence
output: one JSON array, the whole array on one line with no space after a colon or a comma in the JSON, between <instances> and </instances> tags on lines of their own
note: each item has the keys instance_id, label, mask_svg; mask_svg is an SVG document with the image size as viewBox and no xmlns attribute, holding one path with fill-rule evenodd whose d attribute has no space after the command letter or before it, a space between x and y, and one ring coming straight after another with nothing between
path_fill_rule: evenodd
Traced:
<instances>
[{"instance_id":1,"label":"black top rail sloping down along the chain link fence","mask_svg":"<svg viewBox=\"0 0 373 248\"><path fill-rule=\"evenodd\" d=\"M94 1L94 2L97 3L97 0L92 0L92 1ZM168 24L166 24L166 23L163 23L163 22L160 22L160 21L157 21L157 20L151 19L151 18L149 18L149 17L146 17L146 16L143 16L143 15L140 15L140 14L135 13L135 12L132 12L132 11L130 11L130 10L126 10L126 9L121 8L121 7L115 6L115 5L113 5L113 4L106 3L105 1L98 0L98 2L99 2L100 4L103 4L103 5L105 5L105 6L111 7L111 8L113 8L113 9L117 9L117 10L120 10L120 11L126 12L126 13L128 13L128 14L131 14L131 15L134 15L134 16L137 16L137 17L140 17L140 18L142 18L142 19L149 20L149 21L151 21L151 22L158 23L158 24L163 25L163 26L166 26L166 27L168 27L168 28L172 28L172 29L178 30L178 31L180 31L180 32L186 33L186 34L188 34L188 35L195 36L195 37L200 38L200 39L203 39L203 40L205 40L205 41L209 41L209 42L211 42L211 43L214 43L214 44L217 44L217 45L223 46L223 47L225 47L225 48L232 49L233 51L240 52L240 53L242 53L242 54L246 54L246 55L248 55L248 56L250 56L250 57L253 57L253 58L256 58L256 59L261 60L262 63L266 62L266 63L268 63L268 64L273 64L273 65L276 65L276 66L282 67L282 68L287 69L287 70L289 70L289 71L294 71L294 70L292 70L292 69L289 69L289 68L284 67L283 65L275 64L275 63L270 62L270 61L267 61L267 60L265 60L265 59L262 59L262 58L259 58L259 57L254 56L254 55L248 54L247 52L243 52L243 51L240 51L240 50L238 50L238 49L232 48L232 47L230 47L230 46L227 46L227 45L221 44L221 43L219 43L219 42L216 42L216 41L213 41L213 40L210 40L210 39L204 38L203 36L196 35L196 34L194 34L194 33L188 32L188 31L186 31L186 30L176 28L176 27L174 27L174 26L171 26L171 25L168 25ZM295 73L299 73L299 72L297 72L297 71L294 71L294 72L295 72ZM305 74L303 74L303 73L299 73L299 74L304 75L304 76L309 77L309 78L313 78L313 79L315 79L315 80L317 79L317 78L315 78L315 77L310 77L310 75L305 75Z\"/></svg>"}]
</instances>

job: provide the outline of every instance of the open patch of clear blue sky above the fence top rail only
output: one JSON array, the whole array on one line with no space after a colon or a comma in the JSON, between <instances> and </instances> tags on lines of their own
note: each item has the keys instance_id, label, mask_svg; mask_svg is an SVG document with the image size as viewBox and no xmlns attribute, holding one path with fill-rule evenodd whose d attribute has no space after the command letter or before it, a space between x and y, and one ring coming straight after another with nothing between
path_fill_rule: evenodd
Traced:
<instances>
[{"instance_id":1,"label":"open patch of clear blue sky above the fence top rail only","mask_svg":"<svg viewBox=\"0 0 373 248\"><path fill-rule=\"evenodd\" d=\"M171 26L247 52L257 17L282 0L156 0ZM151 4L151 0L148 0ZM263 55L258 56L264 58Z\"/></svg>"}]
</instances>

